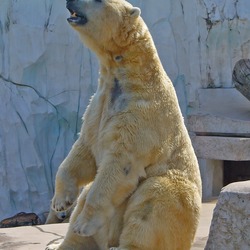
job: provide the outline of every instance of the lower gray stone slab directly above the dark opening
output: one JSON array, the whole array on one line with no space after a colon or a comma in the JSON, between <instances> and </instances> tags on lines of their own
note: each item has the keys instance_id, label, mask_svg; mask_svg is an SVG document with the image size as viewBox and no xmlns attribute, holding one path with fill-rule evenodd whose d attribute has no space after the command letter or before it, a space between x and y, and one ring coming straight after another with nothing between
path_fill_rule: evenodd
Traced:
<instances>
[{"instance_id":1,"label":"lower gray stone slab directly above the dark opening","mask_svg":"<svg viewBox=\"0 0 250 250\"><path fill-rule=\"evenodd\" d=\"M229 161L250 160L250 138L191 136L198 158Z\"/></svg>"}]
</instances>

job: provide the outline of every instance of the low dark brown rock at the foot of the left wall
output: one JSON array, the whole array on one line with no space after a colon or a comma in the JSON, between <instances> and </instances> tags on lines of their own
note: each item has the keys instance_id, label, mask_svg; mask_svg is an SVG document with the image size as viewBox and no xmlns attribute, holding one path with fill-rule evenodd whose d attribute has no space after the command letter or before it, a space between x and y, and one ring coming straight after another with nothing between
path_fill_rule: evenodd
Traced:
<instances>
[{"instance_id":1,"label":"low dark brown rock at the foot of the left wall","mask_svg":"<svg viewBox=\"0 0 250 250\"><path fill-rule=\"evenodd\" d=\"M0 228L21 227L41 225L40 218L35 213L18 213L13 217L4 219L0 222Z\"/></svg>"}]
</instances>

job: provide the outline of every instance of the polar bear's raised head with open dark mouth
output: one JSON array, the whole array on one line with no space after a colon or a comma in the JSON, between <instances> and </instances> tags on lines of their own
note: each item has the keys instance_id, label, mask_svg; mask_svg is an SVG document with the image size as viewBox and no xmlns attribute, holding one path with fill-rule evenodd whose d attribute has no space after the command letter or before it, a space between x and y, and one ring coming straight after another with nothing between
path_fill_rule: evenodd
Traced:
<instances>
[{"instance_id":1,"label":"polar bear's raised head with open dark mouth","mask_svg":"<svg viewBox=\"0 0 250 250\"><path fill-rule=\"evenodd\" d=\"M143 29L140 9L125 0L67 0L67 9L68 22L96 53L128 46Z\"/></svg>"}]
</instances>

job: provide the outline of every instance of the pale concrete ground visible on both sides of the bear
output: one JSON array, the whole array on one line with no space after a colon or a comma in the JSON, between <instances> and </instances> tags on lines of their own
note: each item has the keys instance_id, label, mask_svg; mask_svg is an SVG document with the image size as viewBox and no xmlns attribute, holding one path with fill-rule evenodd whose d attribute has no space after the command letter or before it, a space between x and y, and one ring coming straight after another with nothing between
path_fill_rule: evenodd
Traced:
<instances>
[{"instance_id":1,"label":"pale concrete ground visible on both sides of the bear","mask_svg":"<svg viewBox=\"0 0 250 250\"><path fill-rule=\"evenodd\" d=\"M204 249L208 239L215 202L203 203L201 220L192 250ZM46 245L61 241L68 224L50 224L0 229L0 249L4 250L44 250Z\"/></svg>"}]
</instances>

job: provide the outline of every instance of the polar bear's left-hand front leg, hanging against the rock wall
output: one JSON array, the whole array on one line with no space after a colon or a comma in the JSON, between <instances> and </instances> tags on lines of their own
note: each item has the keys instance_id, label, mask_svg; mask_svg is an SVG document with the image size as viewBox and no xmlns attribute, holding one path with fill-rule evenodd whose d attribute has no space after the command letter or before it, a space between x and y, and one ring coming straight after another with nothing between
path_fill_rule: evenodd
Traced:
<instances>
[{"instance_id":1,"label":"polar bear's left-hand front leg, hanging against the rock wall","mask_svg":"<svg viewBox=\"0 0 250 250\"><path fill-rule=\"evenodd\" d=\"M95 175L95 160L80 137L57 171L52 209L67 210L77 199L81 186L93 181Z\"/></svg>"}]
</instances>

